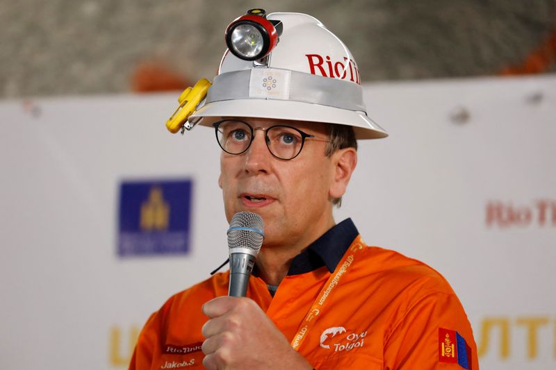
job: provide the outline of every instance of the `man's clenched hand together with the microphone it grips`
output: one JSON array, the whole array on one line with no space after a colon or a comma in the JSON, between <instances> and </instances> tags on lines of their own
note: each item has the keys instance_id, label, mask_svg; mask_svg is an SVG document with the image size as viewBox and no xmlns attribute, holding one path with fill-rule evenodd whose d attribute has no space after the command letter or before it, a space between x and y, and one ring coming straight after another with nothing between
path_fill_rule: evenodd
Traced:
<instances>
[{"instance_id":1,"label":"man's clenched hand together with the microphone it grips","mask_svg":"<svg viewBox=\"0 0 556 370\"><path fill-rule=\"evenodd\" d=\"M203 305L208 321L203 366L216 369L312 369L252 299L245 298L255 258L263 244L263 219L238 212L228 229L229 296Z\"/></svg>"}]
</instances>

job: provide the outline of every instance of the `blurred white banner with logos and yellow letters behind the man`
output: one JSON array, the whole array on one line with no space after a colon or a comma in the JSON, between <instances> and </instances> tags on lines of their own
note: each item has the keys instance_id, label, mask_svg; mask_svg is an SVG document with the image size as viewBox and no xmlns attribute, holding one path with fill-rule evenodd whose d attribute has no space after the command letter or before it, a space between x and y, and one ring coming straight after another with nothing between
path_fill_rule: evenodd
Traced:
<instances>
[{"instance_id":1,"label":"blurred white banner with logos and yellow letters behind the man","mask_svg":"<svg viewBox=\"0 0 556 370\"><path fill-rule=\"evenodd\" d=\"M556 76L367 85L336 221L439 270L482 369L556 366ZM120 369L150 313L227 258L214 133L178 94L0 103L0 367ZM177 220L177 221L176 221Z\"/></svg>"}]
</instances>

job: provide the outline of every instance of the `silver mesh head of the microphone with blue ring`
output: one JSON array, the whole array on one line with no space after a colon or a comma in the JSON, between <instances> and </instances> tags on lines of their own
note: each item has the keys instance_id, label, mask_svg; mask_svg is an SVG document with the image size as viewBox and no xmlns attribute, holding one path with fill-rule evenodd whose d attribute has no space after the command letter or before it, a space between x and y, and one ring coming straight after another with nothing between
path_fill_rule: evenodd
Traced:
<instances>
[{"instance_id":1,"label":"silver mesh head of the microphone with blue ring","mask_svg":"<svg viewBox=\"0 0 556 370\"><path fill-rule=\"evenodd\" d=\"M257 255L263 245L263 218L253 212L238 212L231 218L228 229L230 253Z\"/></svg>"}]
</instances>

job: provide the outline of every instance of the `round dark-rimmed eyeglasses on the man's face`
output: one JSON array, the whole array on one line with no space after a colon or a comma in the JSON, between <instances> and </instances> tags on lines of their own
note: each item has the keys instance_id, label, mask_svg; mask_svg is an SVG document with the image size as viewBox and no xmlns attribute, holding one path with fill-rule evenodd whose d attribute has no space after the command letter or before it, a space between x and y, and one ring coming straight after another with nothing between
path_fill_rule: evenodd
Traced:
<instances>
[{"instance_id":1,"label":"round dark-rimmed eyeglasses on the man's face","mask_svg":"<svg viewBox=\"0 0 556 370\"><path fill-rule=\"evenodd\" d=\"M250 124L236 119L224 119L213 124L216 140L223 151L238 155L245 153L254 140L254 132L262 130L265 133L265 143L270 154L281 160L291 160L301 153L305 139L320 142L330 140L318 139L303 131L284 125L275 125L268 128L253 128Z\"/></svg>"}]
</instances>

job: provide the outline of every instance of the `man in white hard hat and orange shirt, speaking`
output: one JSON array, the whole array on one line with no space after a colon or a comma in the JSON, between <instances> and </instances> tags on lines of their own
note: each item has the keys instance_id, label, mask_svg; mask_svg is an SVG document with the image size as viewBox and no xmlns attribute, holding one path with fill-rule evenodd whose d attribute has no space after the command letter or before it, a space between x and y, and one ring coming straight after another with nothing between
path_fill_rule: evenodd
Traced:
<instances>
[{"instance_id":1,"label":"man in white hard hat and orange shirt, speaking","mask_svg":"<svg viewBox=\"0 0 556 370\"><path fill-rule=\"evenodd\" d=\"M247 298L227 296L229 272L172 296L145 324L130 369L478 369L471 326L445 279L367 246L350 219L334 221L356 138L386 136L366 115L345 45L295 13L254 10L227 33L231 53L189 121L214 127L226 217L261 215L263 246ZM241 37L244 54L230 42ZM252 58L256 40L271 47Z\"/></svg>"}]
</instances>

